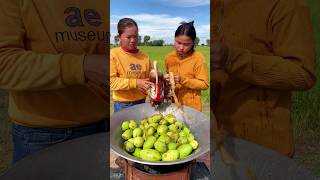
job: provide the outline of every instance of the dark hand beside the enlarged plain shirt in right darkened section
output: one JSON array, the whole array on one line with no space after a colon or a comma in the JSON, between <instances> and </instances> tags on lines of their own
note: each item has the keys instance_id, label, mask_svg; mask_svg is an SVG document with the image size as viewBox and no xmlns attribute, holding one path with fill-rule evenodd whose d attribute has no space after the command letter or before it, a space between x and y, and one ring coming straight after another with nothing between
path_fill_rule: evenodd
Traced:
<instances>
[{"instance_id":1,"label":"dark hand beside the enlarged plain shirt in right darkened section","mask_svg":"<svg viewBox=\"0 0 320 180\"><path fill-rule=\"evenodd\" d=\"M213 58L211 63L212 70L223 69L226 65L229 55L229 49L222 42L214 42L211 44L210 56Z\"/></svg>"}]
</instances>

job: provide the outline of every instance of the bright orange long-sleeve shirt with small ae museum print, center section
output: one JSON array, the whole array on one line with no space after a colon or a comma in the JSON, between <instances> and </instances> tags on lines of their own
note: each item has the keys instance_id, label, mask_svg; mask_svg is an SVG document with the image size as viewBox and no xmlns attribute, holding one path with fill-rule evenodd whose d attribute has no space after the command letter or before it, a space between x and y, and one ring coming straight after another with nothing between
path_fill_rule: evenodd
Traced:
<instances>
[{"instance_id":1,"label":"bright orange long-sleeve shirt with small ae museum print, center section","mask_svg":"<svg viewBox=\"0 0 320 180\"><path fill-rule=\"evenodd\" d=\"M110 90L114 101L132 102L146 98L137 89L137 79L149 78L151 62L139 51L129 53L121 47L110 50Z\"/></svg>"}]
</instances>

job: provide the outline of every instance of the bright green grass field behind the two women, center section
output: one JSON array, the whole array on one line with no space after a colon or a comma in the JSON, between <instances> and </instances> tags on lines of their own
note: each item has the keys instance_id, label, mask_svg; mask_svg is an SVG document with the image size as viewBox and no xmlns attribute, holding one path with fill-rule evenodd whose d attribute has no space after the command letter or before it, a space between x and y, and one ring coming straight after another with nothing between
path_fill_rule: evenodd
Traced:
<instances>
[{"instance_id":1,"label":"bright green grass field behind the two women, center section","mask_svg":"<svg viewBox=\"0 0 320 180\"><path fill-rule=\"evenodd\" d=\"M152 61L156 60L162 72L165 72L165 56L174 50L173 46L140 46L139 49L146 53ZM208 46L198 46L196 47L196 50L204 55L208 65L208 73L210 74L210 48ZM210 88L206 91L202 91L202 102L204 104L210 103Z\"/></svg>"}]
</instances>

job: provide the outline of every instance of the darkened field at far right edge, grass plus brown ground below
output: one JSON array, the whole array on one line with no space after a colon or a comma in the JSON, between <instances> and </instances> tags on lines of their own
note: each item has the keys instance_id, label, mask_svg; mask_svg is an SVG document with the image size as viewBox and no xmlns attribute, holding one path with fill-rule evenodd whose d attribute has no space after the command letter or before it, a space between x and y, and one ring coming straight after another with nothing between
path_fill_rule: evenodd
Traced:
<instances>
[{"instance_id":1,"label":"darkened field at far right edge, grass plus brown ground below","mask_svg":"<svg viewBox=\"0 0 320 180\"><path fill-rule=\"evenodd\" d=\"M292 119L295 131L295 161L320 177L320 2L308 0L316 40L317 83L310 91L293 95Z\"/></svg>"}]
</instances>

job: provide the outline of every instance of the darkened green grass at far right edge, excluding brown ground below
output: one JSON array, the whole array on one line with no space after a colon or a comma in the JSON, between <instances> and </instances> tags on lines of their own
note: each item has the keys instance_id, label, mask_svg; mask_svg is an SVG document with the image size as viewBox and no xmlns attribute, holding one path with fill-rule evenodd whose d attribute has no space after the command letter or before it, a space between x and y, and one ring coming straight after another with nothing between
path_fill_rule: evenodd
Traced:
<instances>
[{"instance_id":1,"label":"darkened green grass at far right edge, excluding brown ground below","mask_svg":"<svg viewBox=\"0 0 320 180\"><path fill-rule=\"evenodd\" d=\"M320 130L320 3L308 0L316 39L316 85L307 92L293 95L292 117L295 134L301 136L305 130Z\"/></svg>"}]
</instances>

